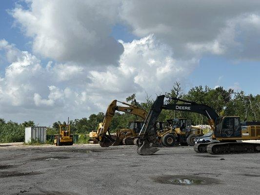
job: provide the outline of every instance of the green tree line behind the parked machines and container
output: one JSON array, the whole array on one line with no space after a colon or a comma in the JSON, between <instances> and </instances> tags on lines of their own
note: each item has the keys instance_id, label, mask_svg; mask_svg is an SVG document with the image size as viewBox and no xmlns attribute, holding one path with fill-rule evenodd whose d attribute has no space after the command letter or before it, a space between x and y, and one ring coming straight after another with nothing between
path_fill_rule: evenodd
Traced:
<instances>
[{"instance_id":1,"label":"green tree line behind the parked machines and container","mask_svg":"<svg viewBox=\"0 0 260 195\"><path fill-rule=\"evenodd\" d=\"M162 94L160 94L162 95ZM224 89L223 87L210 88L208 86L196 86L191 88L187 93L184 93L180 87L180 83L174 83L169 92L164 93L168 97L175 97L185 100L194 101L201 104L206 104L220 116L240 116L241 121L260 121L260 95L246 95L243 91L234 92L233 89ZM136 104L149 112L155 99L146 94L144 102L136 101L136 94L132 94L125 99L126 102ZM112 100L112 99L111 99ZM168 103L178 104L178 101L167 100ZM207 124L207 118L196 113L178 112L170 110L162 110L159 120L166 121L170 118L190 118L193 125ZM104 113L91 114L88 118L70 120L70 128L73 134L87 134L97 130L98 124L103 121ZM128 122L140 119L128 113L116 112L110 124L110 131L127 128ZM66 122L56 121L52 126L47 128L47 135L59 133L59 125ZM0 142L16 142L23 141L24 127L35 125L33 121L16 122L8 121L0 118Z\"/></svg>"}]
</instances>

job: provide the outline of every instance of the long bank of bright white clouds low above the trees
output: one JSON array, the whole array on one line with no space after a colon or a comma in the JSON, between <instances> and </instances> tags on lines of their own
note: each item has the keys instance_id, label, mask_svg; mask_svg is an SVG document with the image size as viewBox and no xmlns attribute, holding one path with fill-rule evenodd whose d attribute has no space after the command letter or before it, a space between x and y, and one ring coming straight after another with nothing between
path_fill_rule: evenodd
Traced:
<instances>
[{"instance_id":1,"label":"long bank of bright white clouds low above the trees","mask_svg":"<svg viewBox=\"0 0 260 195\"><path fill-rule=\"evenodd\" d=\"M36 56L6 41L2 46L5 54L16 51L17 55L0 79L1 110L8 110L12 119L30 113L37 113L34 117L40 121L60 120L62 114L86 117L104 112L115 97L123 100L133 93L140 98L144 92L164 93L176 79L185 79L199 62L173 59L172 49L153 35L130 43L120 40L120 44L124 47L120 65L97 71L71 62L49 61L44 66ZM21 117L20 111L25 116Z\"/></svg>"}]
</instances>

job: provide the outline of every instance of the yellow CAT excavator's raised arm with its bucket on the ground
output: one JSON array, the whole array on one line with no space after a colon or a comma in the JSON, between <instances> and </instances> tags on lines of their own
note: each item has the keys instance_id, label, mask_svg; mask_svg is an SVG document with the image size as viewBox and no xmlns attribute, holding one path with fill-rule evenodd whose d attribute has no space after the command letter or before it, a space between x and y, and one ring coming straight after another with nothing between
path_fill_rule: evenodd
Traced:
<instances>
[{"instance_id":1,"label":"yellow CAT excavator's raised arm with its bucket on the ground","mask_svg":"<svg viewBox=\"0 0 260 195\"><path fill-rule=\"evenodd\" d=\"M111 137L110 132L109 132L109 125L110 125L116 111L133 114L133 115L141 117L142 119L145 119L147 116L146 111L136 105L128 104L125 102L120 102L127 106L118 106L117 102L120 102L120 101L115 99L109 104L107 111L105 113L103 122L99 124L97 134L98 134L98 139L100 141L101 147L108 147L116 141L113 137ZM108 135L106 134L107 132L108 132Z\"/></svg>"}]
</instances>

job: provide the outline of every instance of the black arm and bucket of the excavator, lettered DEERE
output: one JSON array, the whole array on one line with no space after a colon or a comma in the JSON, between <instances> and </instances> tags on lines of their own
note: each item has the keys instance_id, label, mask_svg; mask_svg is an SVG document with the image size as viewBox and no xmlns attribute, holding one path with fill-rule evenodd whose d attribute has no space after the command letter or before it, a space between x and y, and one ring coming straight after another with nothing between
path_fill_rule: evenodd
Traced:
<instances>
[{"instance_id":1,"label":"black arm and bucket of the excavator, lettered DEERE","mask_svg":"<svg viewBox=\"0 0 260 195\"><path fill-rule=\"evenodd\" d=\"M167 104L164 103L164 98L170 98L176 101L184 102L186 104ZM204 115L209 119L209 124L213 130L215 121L219 117L216 111L207 105L198 104L196 102L187 101L179 98L166 97L164 95L158 96L144 121L143 128L140 131L137 149L138 154L151 155L158 151L157 148L151 147L151 144L158 145L156 135L153 134L153 132L151 131L162 109L185 111Z\"/></svg>"}]
</instances>

